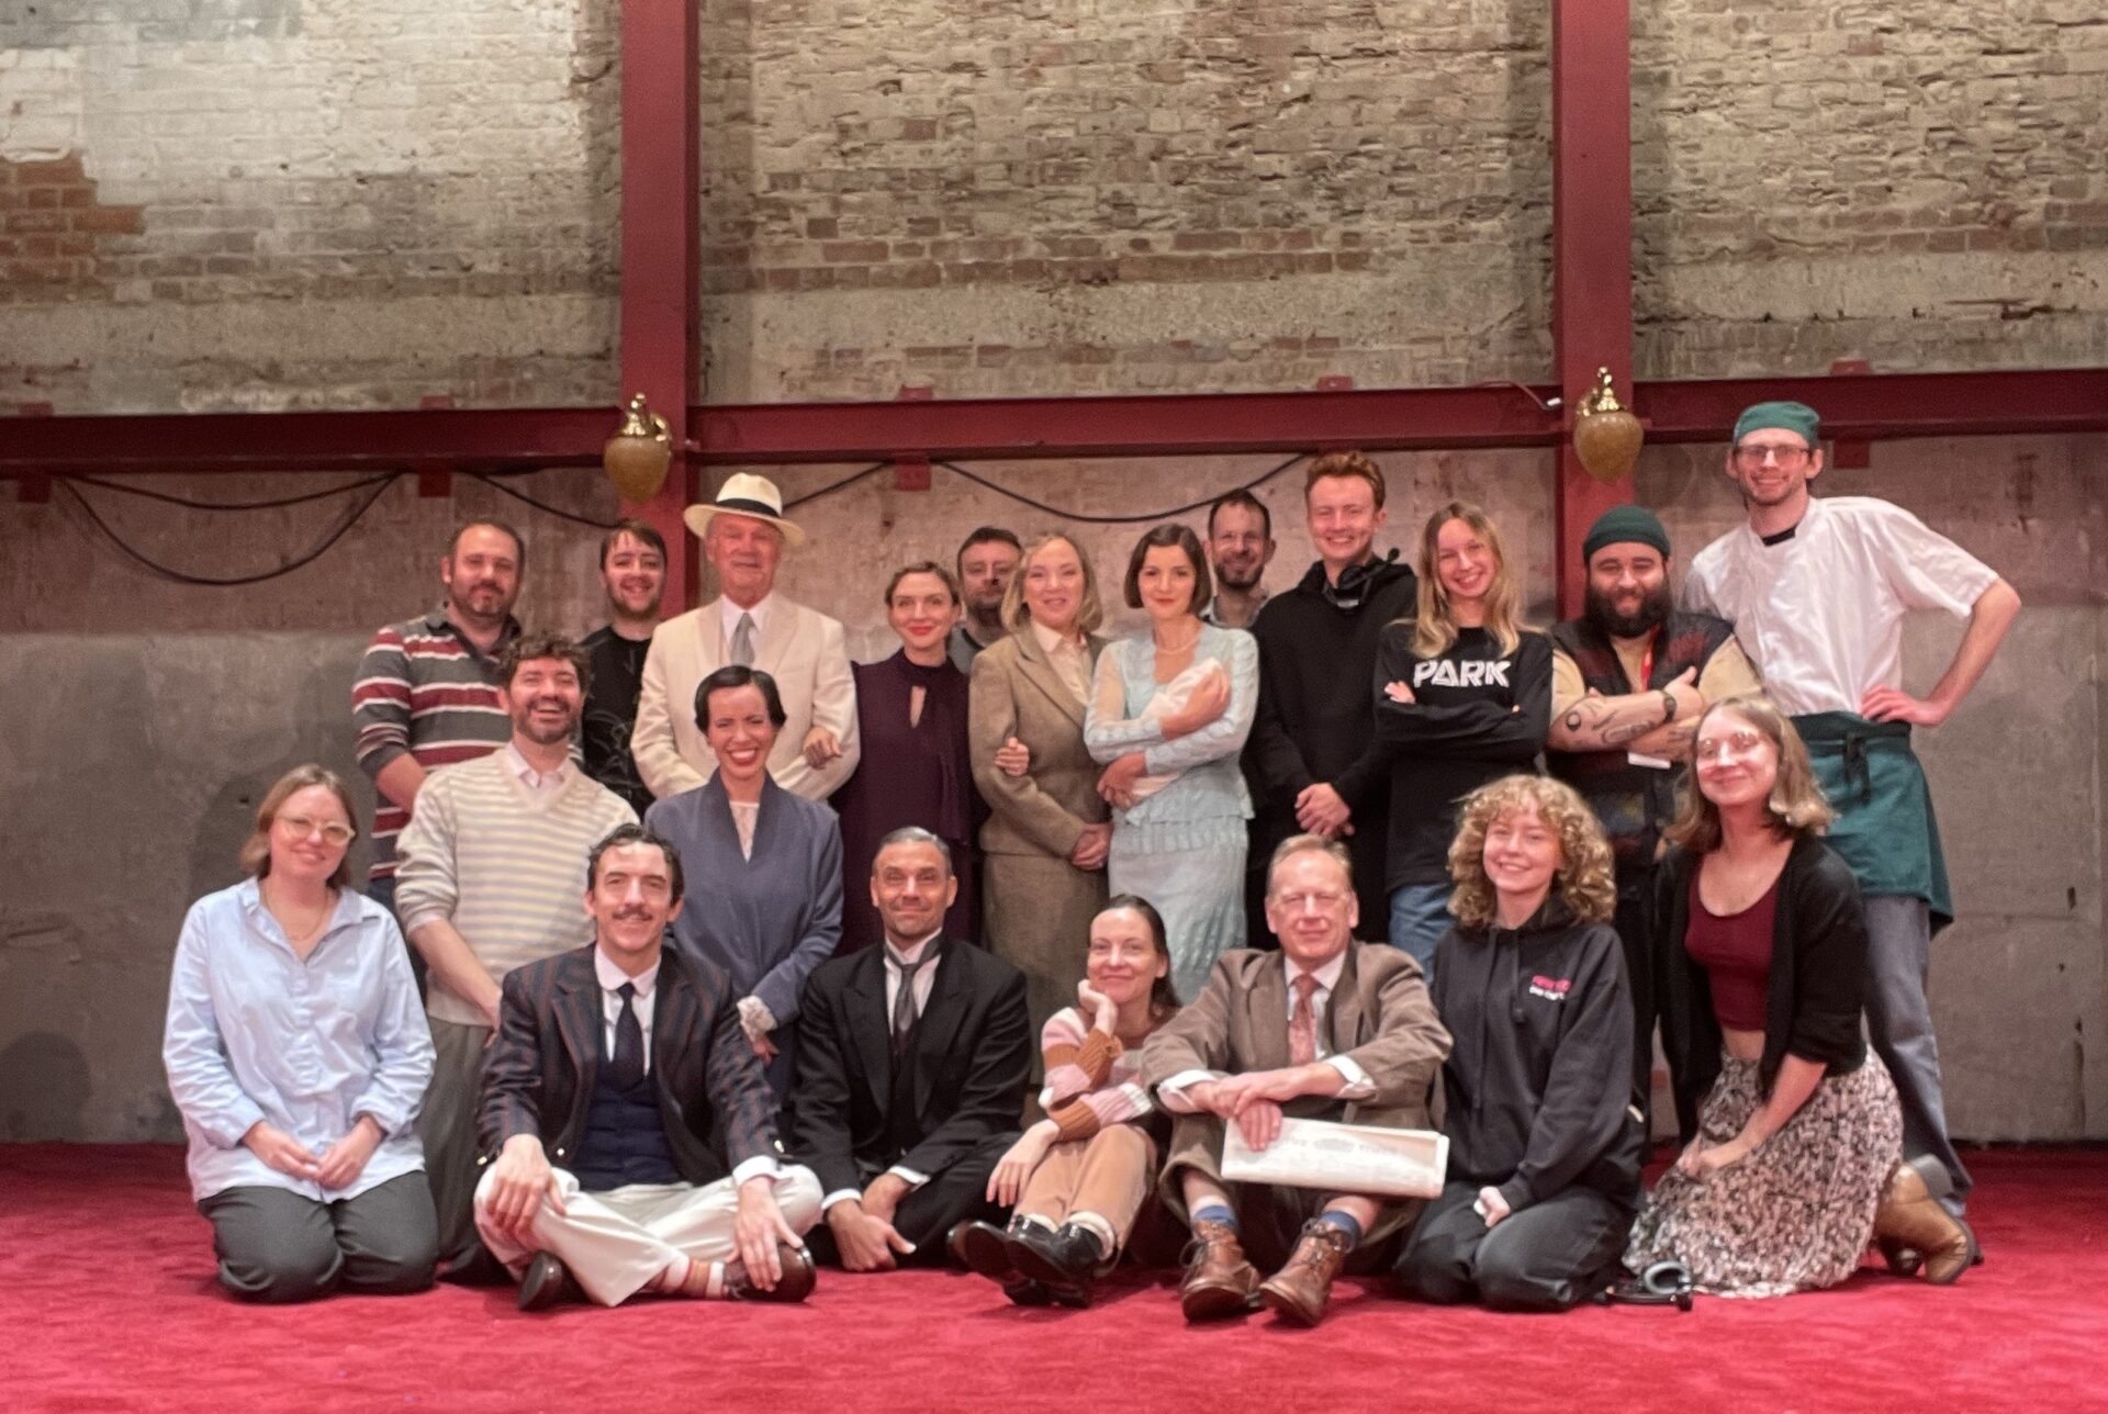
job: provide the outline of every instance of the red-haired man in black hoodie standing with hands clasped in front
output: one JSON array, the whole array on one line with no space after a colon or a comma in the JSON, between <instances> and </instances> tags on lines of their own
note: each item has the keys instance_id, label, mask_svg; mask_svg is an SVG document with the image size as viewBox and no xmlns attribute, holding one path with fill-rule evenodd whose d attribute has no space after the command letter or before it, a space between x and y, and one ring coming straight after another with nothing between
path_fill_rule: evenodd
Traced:
<instances>
[{"instance_id":1,"label":"red-haired man in black hoodie standing with hands clasped in front","mask_svg":"<svg viewBox=\"0 0 2108 1414\"><path fill-rule=\"evenodd\" d=\"M1358 451L1311 461L1303 508L1318 563L1252 622L1258 710L1244 746L1254 807L1244 887L1252 940L1273 936L1267 860L1290 834L1347 845L1362 917L1389 917L1383 866L1391 769L1377 744L1368 683L1383 626L1412 617L1419 586L1412 569L1395 563L1395 550L1377 556L1383 491L1383 472Z\"/></svg>"}]
</instances>

